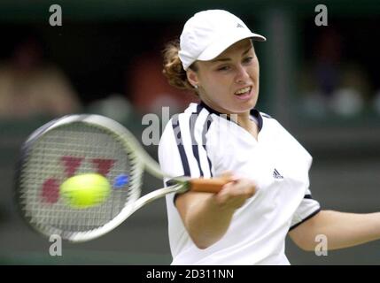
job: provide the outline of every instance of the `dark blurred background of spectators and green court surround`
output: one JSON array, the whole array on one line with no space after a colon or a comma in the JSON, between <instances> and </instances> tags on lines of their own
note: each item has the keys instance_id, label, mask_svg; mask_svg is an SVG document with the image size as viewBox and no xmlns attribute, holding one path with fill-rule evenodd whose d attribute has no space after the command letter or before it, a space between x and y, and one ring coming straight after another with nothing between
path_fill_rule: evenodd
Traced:
<instances>
[{"instance_id":1,"label":"dark blurred background of spectators and green court surround","mask_svg":"<svg viewBox=\"0 0 380 283\"><path fill-rule=\"evenodd\" d=\"M62 26L49 24L50 5ZM268 38L258 109L278 119L314 156L311 189L323 209L380 210L378 1L66 0L0 2L0 264L170 264L164 199L102 238L63 245L32 232L12 201L19 147L66 113L99 113L137 137L143 113L182 111L194 97L167 85L161 50L196 11L226 9ZM161 129L162 130L162 129ZM157 158L157 147L146 149ZM161 186L148 178L144 192ZM380 241L315 256L287 240L292 264L380 264Z\"/></svg>"}]
</instances>

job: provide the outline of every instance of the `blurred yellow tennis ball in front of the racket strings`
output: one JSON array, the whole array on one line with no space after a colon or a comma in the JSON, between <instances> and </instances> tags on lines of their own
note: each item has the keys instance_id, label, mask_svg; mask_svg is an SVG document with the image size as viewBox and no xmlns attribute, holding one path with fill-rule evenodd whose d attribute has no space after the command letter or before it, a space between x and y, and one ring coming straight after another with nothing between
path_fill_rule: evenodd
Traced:
<instances>
[{"instance_id":1,"label":"blurred yellow tennis ball in front of the racket strings","mask_svg":"<svg viewBox=\"0 0 380 283\"><path fill-rule=\"evenodd\" d=\"M76 209L86 209L103 203L110 195L108 180L95 173L81 174L64 181L59 187L67 205Z\"/></svg>"}]
</instances>

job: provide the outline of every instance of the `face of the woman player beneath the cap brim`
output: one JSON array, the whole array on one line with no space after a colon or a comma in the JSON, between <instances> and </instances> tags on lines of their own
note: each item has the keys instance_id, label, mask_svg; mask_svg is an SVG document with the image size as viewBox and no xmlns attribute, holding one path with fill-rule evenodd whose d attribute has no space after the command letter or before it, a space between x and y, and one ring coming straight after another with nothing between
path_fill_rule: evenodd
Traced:
<instances>
[{"instance_id":1,"label":"face of the woman player beneath the cap brim","mask_svg":"<svg viewBox=\"0 0 380 283\"><path fill-rule=\"evenodd\" d=\"M259 61L252 41L245 39L231 45L211 61L198 61L193 78L199 96L221 113L250 111L259 95Z\"/></svg>"}]
</instances>

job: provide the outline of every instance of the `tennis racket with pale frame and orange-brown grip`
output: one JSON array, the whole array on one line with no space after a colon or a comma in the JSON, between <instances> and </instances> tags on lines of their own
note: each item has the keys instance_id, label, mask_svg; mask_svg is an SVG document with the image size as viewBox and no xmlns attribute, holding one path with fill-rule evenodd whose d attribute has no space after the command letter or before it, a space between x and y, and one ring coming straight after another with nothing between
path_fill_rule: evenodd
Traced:
<instances>
[{"instance_id":1,"label":"tennis racket with pale frame and orange-brown grip","mask_svg":"<svg viewBox=\"0 0 380 283\"><path fill-rule=\"evenodd\" d=\"M170 186L141 196L143 172ZM70 177L102 174L111 193L86 209L63 200L59 186ZM37 232L58 234L67 241L89 241L112 231L147 203L189 190L217 193L229 180L168 176L135 136L116 121L100 115L68 115L35 130L24 142L16 173L16 202Z\"/></svg>"}]
</instances>

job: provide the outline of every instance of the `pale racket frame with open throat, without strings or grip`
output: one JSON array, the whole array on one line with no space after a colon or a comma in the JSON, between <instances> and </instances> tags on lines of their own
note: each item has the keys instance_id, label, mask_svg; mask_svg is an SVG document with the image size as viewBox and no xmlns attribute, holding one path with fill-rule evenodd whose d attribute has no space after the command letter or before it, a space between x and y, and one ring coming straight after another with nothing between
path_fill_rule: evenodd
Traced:
<instances>
[{"instance_id":1,"label":"pale racket frame with open throat, without strings or grip","mask_svg":"<svg viewBox=\"0 0 380 283\"><path fill-rule=\"evenodd\" d=\"M33 148L33 144L39 141L44 134L48 134L51 130L57 129L60 126L70 125L72 123L85 123L89 126L96 126L108 133L112 133L115 136L119 137L119 142L123 144L128 151L128 155L133 153L135 158L138 158L138 162L136 163L136 167L134 168L137 172L135 181L136 183L132 184L132 191L134 194L130 195L128 198L128 203L125 204L124 208L120 210L119 214L112 218L109 222L105 223L103 226L99 226L93 230L85 231L85 232L66 232L61 229L58 229L54 226L42 226L36 225L34 221L32 221L32 217L28 216L26 211L23 210L23 203L20 203L22 200L21 197L21 174L22 174L22 166L27 160L28 155L30 154L30 150ZM127 142L128 141L128 142ZM151 173L151 175L156 178L170 178L170 181L173 185L168 187L162 187L148 193L146 195L141 195L141 185L142 185L142 175L144 170ZM74 114L74 115L66 115L60 119L54 119L40 128L36 129L35 132L29 135L27 141L23 143L21 147L21 153L19 155L19 162L16 167L16 175L15 175L15 187L16 187L16 203L19 209L19 212L23 216L24 220L26 220L27 224L35 229L38 233L42 233L45 236L50 236L51 234L58 234L62 239L71 242L82 242L82 241L90 241L94 240L105 233L112 231L117 226L120 226L122 222L124 222L131 214L133 214L136 210L140 209L146 203L151 203L152 201L163 197L164 195L175 193L182 194L190 189L190 178L188 177L178 177L173 178L164 172L162 172L159 168L159 164L151 157L149 154L143 149L139 142L137 142L135 136L131 134L125 126L121 126L118 122L106 118L101 115L96 114ZM137 187L137 189L136 189Z\"/></svg>"}]
</instances>

